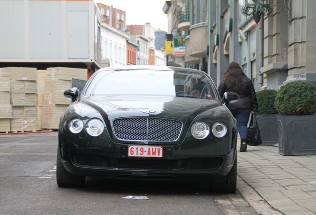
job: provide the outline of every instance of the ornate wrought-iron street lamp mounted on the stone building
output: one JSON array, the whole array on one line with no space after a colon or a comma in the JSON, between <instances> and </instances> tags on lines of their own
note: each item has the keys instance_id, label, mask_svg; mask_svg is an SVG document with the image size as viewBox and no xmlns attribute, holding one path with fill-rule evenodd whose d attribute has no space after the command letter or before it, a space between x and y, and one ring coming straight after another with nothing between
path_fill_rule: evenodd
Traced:
<instances>
[{"instance_id":1,"label":"ornate wrought-iron street lamp mounted on the stone building","mask_svg":"<svg viewBox=\"0 0 316 215\"><path fill-rule=\"evenodd\" d=\"M290 2L290 7L288 7ZM245 16L252 15L254 21L258 23L261 16L269 15L275 6L281 6L283 15L289 16L291 14L292 0L284 0L283 5L272 5L270 0L244 0L244 6L241 8L241 13Z\"/></svg>"}]
</instances>

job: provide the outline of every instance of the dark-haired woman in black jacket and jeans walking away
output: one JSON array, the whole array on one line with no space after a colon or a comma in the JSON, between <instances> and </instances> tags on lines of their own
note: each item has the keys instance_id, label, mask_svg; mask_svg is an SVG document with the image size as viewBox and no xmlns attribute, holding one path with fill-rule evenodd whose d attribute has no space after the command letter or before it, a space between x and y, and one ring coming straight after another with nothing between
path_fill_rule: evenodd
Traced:
<instances>
[{"instance_id":1,"label":"dark-haired woman in black jacket and jeans walking away","mask_svg":"<svg viewBox=\"0 0 316 215\"><path fill-rule=\"evenodd\" d=\"M241 139L239 151L245 152L247 151L247 124L250 112L254 114L257 111L258 103L251 80L242 71L237 62L232 61L228 65L218 91L221 98L227 91L237 93L239 96L238 102L230 103L227 107L237 120L238 133Z\"/></svg>"}]
</instances>

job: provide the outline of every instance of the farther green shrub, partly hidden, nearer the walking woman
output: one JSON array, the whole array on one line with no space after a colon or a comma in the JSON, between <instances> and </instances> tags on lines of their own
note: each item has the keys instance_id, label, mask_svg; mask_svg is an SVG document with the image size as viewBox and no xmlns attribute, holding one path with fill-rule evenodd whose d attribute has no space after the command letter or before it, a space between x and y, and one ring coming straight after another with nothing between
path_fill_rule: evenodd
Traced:
<instances>
[{"instance_id":1,"label":"farther green shrub, partly hidden, nearer the walking woman","mask_svg":"<svg viewBox=\"0 0 316 215\"><path fill-rule=\"evenodd\" d=\"M275 114L278 113L274 101L277 95L276 90L261 90L256 92L258 100L258 111L256 114Z\"/></svg>"}]
</instances>

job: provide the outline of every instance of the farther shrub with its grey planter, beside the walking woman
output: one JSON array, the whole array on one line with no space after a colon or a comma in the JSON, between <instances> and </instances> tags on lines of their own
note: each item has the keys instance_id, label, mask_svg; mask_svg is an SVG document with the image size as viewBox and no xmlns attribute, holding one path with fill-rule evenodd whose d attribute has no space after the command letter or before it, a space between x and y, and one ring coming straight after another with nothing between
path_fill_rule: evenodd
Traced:
<instances>
[{"instance_id":1,"label":"farther shrub with its grey planter, beside the walking woman","mask_svg":"<svg viewBox=\"0 0 316 215\"><path fill-rule=\"evenodd\" d=\"M258 101L258 111L256 112L256 116L262 139L260 146L277 144L278 111L274 105L277 91L266 89L258 91L256 94Z\"/></svg>"}]
</instances>

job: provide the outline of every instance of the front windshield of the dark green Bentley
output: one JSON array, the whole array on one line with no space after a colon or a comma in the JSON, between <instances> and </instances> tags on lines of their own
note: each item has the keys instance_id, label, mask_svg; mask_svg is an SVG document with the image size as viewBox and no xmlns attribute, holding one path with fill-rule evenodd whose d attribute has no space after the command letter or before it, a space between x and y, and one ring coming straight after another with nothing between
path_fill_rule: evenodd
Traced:
<instances>
[{"instance_id":1,"label":"front windshield of the dark green Bentley","mask_svg":"<svg viewBox=\"0 0 316 215\"><path fill-rule=\"evenodd\" d=\"M156 95L212 99L216 97L209 78L178 71L123 70L98 72L84 96Z\"/></svg>"}]
</instances>

